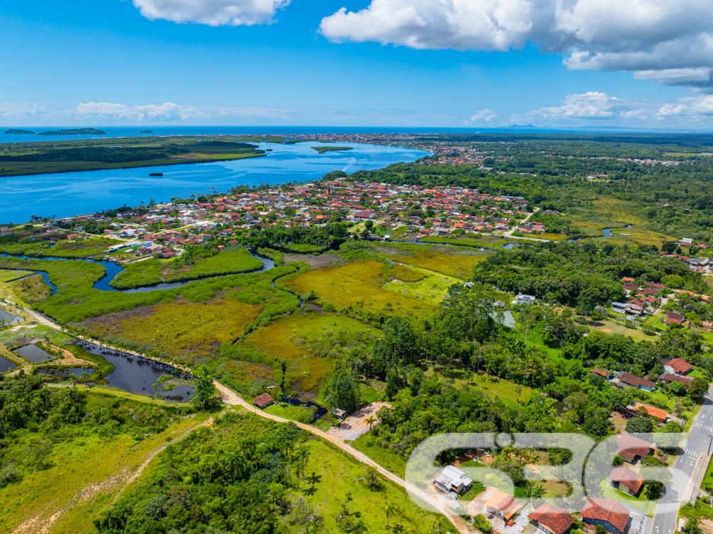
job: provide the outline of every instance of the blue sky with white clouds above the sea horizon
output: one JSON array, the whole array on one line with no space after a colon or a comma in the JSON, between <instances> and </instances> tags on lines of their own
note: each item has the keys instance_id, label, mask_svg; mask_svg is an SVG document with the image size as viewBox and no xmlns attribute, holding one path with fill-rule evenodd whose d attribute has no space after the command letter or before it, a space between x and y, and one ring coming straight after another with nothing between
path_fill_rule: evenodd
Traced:
<instances>
[{"instance_id":1,"label":"blue sky with white clouds above the sea horizon","mask_svg":"<svg viewBox=\"0 0 713 534\"><path fill-rule=\"evenodd\" d=\"M713 130L710 0L0 2L0 125Z\"/></svg>"}]
</instances>

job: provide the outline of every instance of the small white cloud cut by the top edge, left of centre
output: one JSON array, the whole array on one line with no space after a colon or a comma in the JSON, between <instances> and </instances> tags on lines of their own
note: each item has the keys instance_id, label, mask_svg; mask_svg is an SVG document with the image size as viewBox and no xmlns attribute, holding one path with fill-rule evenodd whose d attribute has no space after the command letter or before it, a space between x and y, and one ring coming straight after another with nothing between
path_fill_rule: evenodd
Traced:
<instances>
[{"instance_id":1,"label":"small white cloud cut by the top edge, left of centre","mask_svg":"<svg viewBox=\"0 0 713 534\"><path fill-rule=\"evenodd\" d=\"M290 0L133 0L147 19L208 26L252 26L272 21Z\"/></svg>"}]
</instances>

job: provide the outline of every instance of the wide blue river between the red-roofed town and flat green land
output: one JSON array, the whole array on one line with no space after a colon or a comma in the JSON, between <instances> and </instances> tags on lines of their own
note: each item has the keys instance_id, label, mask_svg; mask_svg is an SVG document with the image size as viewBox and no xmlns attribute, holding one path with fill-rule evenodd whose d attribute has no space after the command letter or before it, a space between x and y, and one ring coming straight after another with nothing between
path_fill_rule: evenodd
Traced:
<instances>
[{"instance_id":1,"label":"wide blue river between the red-roofed town and flat green land","mask_svg":"<svg viewBox=\"0 0 713 534\"><path fill-rule=\"evenodd\" d=\"M317 180L332 170L383 168L410 162L429 153L364 143L339 143L352 150L317 153L318 143L259 143L267 156L215 163L189 163L130 169L87 170L0 178L0 224L26 222L32 215L68 217L138 206L153 198L168 202L207 192L225 192L237 185L257 186ZM163 176L149 176L163 173Z\"/></svg>"}]
</instances>

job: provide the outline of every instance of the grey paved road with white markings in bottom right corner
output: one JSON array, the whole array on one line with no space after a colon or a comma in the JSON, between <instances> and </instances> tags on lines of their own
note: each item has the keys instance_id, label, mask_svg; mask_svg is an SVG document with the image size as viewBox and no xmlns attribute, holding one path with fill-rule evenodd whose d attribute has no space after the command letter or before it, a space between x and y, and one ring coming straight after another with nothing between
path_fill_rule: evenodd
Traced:
<instances>
[{"instance_id":1,"label":"grey paved road with white markings in bottom right corner","mask_svg":"<svg viewBox=\"0 0 713 534\"><path fill-rule=\"evenodd\" d=\"M683 453L674 462L674 469L679 471L673 481L670 491L683 497L691 480L698 458L708 453L708 448L713 436L713 387L704 397L698 415L691 426L688 439L683 446ZM684 504L684 503L681 503ZM651 522L650 534L673 534L677 528L676 519L679 505L659 505L655 518Z\"/></svg>"}]
</instances>

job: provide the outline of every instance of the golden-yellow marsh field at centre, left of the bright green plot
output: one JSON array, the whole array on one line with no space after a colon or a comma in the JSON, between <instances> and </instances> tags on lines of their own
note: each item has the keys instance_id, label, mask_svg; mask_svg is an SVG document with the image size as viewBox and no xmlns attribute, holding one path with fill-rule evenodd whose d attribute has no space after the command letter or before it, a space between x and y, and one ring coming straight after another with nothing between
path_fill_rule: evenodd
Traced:
<instances>
[{"instance_id":1,"label":"golden-yellow marsh field at centre, left of the bright green plot","mask_svg":"<svg viewBox=\"0 0 713 534\"><path fill-rule=\"evenodd\" d=\"M285 286L298 294L314 290L321 301L347 313L398 312L408 317L428 317L435 312L431 304L381 289L383 277L384 265L366 260L298 274Z\"/></svg>"}]
</instances>

